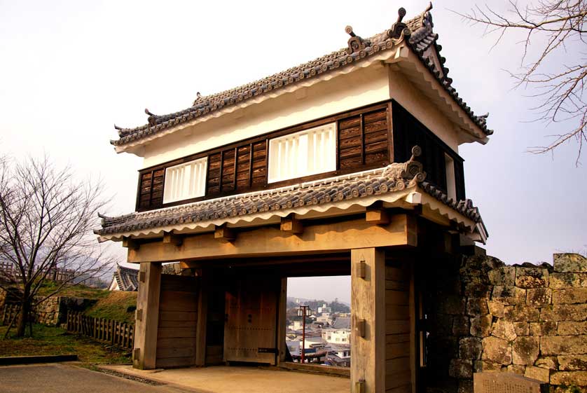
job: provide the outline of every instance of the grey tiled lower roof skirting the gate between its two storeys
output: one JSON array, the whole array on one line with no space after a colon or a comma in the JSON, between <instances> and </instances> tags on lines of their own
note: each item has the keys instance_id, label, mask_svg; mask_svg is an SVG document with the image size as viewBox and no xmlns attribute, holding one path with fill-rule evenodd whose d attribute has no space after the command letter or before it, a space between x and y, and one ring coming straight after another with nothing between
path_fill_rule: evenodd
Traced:
<instances>
[{"instance_id":1,"label":"grey tiled lower roof skirting the gate between its two storeys","mask_svg":"<svg viewBox=\"0 0 587 393\"><path fill-rule=\"evenodd\" d=\"M416 186L420 186L422 191L472 221L481 222L481 215L478 209L472 205L471 200L458 202L451 200L446 193L424 181L426 174L422 170L422 164L415 160L415 156L420 155L420 148L416 146L413 153L414 155L407 163L392 163L386 167L357 174L332 177L275 190L203 200L148 212L134 212L118 217L101 216L102 229L95 230L95 233L97 235L112 235L214 219L233 217L245 219L247 216L259 212L275 212L280 209L360 200L371 195L385 195Z\"/></svg>"}]
</instances>

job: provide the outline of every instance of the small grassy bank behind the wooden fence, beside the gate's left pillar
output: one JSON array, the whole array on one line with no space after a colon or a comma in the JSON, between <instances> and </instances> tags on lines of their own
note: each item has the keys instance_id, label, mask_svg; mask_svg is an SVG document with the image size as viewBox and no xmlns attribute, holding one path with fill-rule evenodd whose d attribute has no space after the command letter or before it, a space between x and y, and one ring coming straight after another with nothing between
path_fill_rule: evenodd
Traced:
<instances>
[{"instance_id":1,"label":"small grassy bank behind the wooden fence, beside the gate's left pillar","mask_svg":"<svg viewBox=\"0 0 587 393\"><path fill-rule=\"evenodd\" d=\"M106 291L84 314L90 317L113 319L134 324L134 310L137 307L137 292Z\"/></svg>"}]
</instances>

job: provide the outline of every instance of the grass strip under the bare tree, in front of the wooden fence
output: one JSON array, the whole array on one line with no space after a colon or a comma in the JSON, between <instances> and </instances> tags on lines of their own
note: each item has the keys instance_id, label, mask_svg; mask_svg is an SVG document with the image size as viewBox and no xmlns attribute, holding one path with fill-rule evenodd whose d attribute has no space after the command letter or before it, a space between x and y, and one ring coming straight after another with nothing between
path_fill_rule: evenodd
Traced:
<instances>
[{"instance_id":1,"label":"grass strip under the bare tree, in front of the wooden fence","mask_svg":"<svg viewBox=\"0 0 587 393\"><path fill-rule=\"evenodd\" d=\"M27 330L28 331L28 330ZM101 343L96 343L83 336L69 334L64 329L43 325L34 325L33 337L2 340L6 326L0 326L0 357L77 354L80 361L88 364L129 364L130 354L127 350L118 350ZM11 331L13 333L14 330Z\"/></svg>"}]
</instances>

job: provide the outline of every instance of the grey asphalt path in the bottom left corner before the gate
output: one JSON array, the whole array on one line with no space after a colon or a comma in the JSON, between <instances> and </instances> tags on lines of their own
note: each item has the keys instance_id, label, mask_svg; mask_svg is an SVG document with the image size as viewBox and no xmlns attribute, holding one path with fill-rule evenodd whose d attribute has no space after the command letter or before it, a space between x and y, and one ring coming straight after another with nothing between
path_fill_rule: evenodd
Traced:
<instances>
[{"instance_id":1,"label":"grey asphalt path in the bottom left corner before the gate","mask_svg":"<svg viewBox=\"0 0 587 393\"><path fill-rule=\"evenodd\" d=\"M193 390L153 386L68 364L0 367L0 393L186 393Z\"/></svg>"}]
</instances>

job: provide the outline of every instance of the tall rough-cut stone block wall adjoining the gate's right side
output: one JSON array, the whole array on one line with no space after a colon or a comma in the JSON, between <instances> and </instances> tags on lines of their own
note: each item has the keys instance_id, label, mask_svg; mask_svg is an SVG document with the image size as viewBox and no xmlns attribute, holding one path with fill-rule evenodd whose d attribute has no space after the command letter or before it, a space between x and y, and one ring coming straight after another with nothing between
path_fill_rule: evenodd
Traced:
<instances>
[{"instance_id":1,"label":"tall rough-cut stone block wall adjoining the gate's right side","mask_svg":"<svg viewBox=\"0 0 587 393\"><path fill-rule=\"evenodd\" d=\"M424 277L429 392L472 392L476 371L587 392L587 259L506 266L483 254L434 263Z\"/></svg>"}]
</instances>

